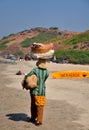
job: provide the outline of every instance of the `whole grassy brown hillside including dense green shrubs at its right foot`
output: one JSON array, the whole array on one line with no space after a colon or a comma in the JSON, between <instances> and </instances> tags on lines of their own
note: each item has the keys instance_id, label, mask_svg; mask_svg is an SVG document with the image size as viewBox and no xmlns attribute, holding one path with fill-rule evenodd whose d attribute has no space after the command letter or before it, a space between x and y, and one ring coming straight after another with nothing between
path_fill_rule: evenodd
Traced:
<instances>
[{"instance_id":1,"label":"whole grassy brown hillside including dense green shrubs at its right foot","mask_svg":"<svg viewBox=\"0 0 89 130\"><path fill-rule=\"evenodd\" d=\"M59 44L57 48L59 50L56 50L54 54L57 59L68 59L70 63L75 64L89 64L89 31L73 33L58 29L35 28L3 38L0 40L0 51L11 48L10 52L12 52L13 48L14 54L19 51L24 54L23 50L26 51L34 42L44 44L56 42ZM8 43L10 43L9 46Z\"/></svg>"}]
</instances>

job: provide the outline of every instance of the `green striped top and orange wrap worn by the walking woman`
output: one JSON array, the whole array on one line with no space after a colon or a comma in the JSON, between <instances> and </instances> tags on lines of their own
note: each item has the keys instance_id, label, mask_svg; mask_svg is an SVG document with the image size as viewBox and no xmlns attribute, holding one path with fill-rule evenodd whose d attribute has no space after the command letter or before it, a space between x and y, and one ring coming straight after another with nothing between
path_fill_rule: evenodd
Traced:
<instances>
[{"instance_id":1,"label":"green striped top and orange wrap worn by the walking woman","mask_svg":"<svg viewBox=\"0 0 89 130\"><path fill-rule=\"evenodd\" d=\"M46 85L45 81L49 76L47 69L34 68L27 75L26 78L32 74L35 74L38 78L37 87L31 89L30 93L35 96L35 103L37 106L45 105L45 96L46 96Z\"/></svg>"}]
</instances>

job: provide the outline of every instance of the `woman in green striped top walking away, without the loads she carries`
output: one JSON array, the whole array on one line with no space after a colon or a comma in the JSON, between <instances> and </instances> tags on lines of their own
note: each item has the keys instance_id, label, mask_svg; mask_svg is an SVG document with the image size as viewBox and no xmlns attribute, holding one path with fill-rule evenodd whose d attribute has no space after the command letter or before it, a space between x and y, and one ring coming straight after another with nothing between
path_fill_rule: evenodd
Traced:
<instances>
[{"instance_id":1,"label":"woman in green striped top walking away, without the loads she carries","mask_svg":"<svg viewBox=\"0 0 89 130\"><path fill-rule=\"evenodd\" d=\"M38 59L36 68L33 68L25 78L35 74L37 76L37 87L30 89L31 95L31 122L36 121L36 125L41 125L43 121L43 109L46 103L46 85L49 73L45 59Z\"/></svg>"}]
</instances>

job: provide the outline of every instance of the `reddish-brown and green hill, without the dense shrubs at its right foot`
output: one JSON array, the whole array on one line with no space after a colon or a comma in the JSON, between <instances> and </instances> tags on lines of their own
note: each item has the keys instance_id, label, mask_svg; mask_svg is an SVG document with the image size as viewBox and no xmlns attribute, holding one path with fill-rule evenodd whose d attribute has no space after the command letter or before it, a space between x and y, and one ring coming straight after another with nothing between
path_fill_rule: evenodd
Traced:
<instances>
[{"instance_id":1,"label":"reddish-brown and green hill, without the dense shrubs at its right foot","mask_svg":"<svg viewBox=\"0 0 89 130\"><path fill-rule=\"evenodd\" d=\"M24 30L17 34L10 34L0 40L0 55L26 55L30 52L30 45L34 42L43 44L53 42L56 57L60 58L59 53L62 52L61 54L64 58L65 54L63 52L65 51L68 54L71 50L72 53L75 50L76 53L89 50L89 30L85 32L71 32L59 30L57 27L37 27Z\"/></svg>"}]
</instances>

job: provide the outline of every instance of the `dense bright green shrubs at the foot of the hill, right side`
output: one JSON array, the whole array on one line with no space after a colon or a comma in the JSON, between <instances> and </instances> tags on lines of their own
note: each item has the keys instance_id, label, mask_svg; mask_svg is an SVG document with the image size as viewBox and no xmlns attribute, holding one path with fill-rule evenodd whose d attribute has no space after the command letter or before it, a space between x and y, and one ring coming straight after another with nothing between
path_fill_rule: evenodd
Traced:
<instances>
[{"instance_id":1,"label":"dense bright green shrubs at the foot of the hill, right side","mask_svg":"<svg viewBox=\"0 0 89 130\"><path fill-rule=\"evenodd\" d=\"M67 59L69 63L89 64L88 50L58 50L54 55L59 61Z\"/></svg>"}]
</instances>

